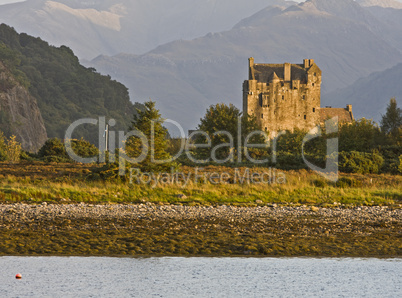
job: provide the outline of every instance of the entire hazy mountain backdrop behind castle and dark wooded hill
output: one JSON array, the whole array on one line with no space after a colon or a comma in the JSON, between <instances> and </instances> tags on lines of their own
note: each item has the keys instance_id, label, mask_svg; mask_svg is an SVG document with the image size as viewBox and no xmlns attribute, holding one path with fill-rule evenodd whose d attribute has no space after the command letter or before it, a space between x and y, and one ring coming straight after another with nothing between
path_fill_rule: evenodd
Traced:
<instances>
[{"instance_id":1,"label":"entire hazy mountain backdrop behind castle and dark wooded hill","mask_svg":"<svg viewBox=\"0 0 402 298\"><path fill-rule=\"evenodd\" d=\"M68 44L85 65L124 83L132 101L156 100L165 118L186 129L211 104L241 106L249 57L256 63L314 58L323 70L323 105L352 103L355 115L379 120L389 101L385 92L385 99L370 93L381 105L367 105L345 90L358 92L361 80L370 81L374 72L386 77L402 62L400 2L233 3L32 0L2 6L0 22ZM402 93L392 96L400 100Z\"/></svg>"}]
</instances>

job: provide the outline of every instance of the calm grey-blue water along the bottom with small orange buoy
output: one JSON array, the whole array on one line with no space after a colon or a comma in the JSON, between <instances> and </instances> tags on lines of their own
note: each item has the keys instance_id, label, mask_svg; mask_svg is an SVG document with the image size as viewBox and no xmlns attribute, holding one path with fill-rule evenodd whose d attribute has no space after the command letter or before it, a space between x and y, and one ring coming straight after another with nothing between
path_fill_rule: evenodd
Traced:
<instances>
[{"instance_id":1,"label":"calm grey-blue water along the bottom with small orange buoy","mask_svg":"<svg viewBox=\"0 0 402 298\"><path fill-rule=\"evenodd\" d=\"M0 257L0 297L402 297L401 283L402 259Z\"/></svg>"}]
</instances>

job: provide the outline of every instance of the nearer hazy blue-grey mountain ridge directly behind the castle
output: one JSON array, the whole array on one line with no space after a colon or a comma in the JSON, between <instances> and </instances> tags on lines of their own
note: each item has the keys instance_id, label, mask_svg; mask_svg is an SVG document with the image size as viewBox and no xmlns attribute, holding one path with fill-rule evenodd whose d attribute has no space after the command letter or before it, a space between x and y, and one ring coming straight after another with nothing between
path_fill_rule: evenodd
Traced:
<instances>
[{"instance_id":1,"label":"nearer hazy blue-grey mountain ridge directly behind the castle","mask_svg":"<svg viewBox=\"0 0 402 298\"><path fill-rule=\"evenodd\" d=\"M144 55L100 56L89 65L123 82L133 98L155 99L165 117L191 128L211 104L241 106L249 57L256 63L314 58L328 104L327 93L402 62L401 36L402 26L352 0L310 0L267 7L228 31L174 41ZM334 98L330 105L344 104ZM370 114L375 112L378 121L380 111Z\"/></svg>"}]
</instances>

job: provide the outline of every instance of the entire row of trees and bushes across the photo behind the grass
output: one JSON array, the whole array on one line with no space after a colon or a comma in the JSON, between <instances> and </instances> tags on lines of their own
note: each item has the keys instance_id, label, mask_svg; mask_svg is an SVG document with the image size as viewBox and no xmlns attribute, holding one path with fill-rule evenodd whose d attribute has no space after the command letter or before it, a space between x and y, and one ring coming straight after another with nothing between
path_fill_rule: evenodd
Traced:
<instances>
[{"instance_id":1,"label":"entire row of trees and bushes across the photo behind the grass","mask_svg":"<svg viewBox=\"0 0 402 298\"><path fill-rule=\"evenodd\" d=\"M239 122L240 119L240 122ZM137 164L128 163L128 168L136 167L141 171L163 172L177 169L179 164L199 166L201 164L215 164L223 166L273 166L280 169L307 168L302 158L302 143L307 131L288 131L277 139L276 150L267 146L267 139L263 134L255 134L250 138L250 133L258 131L256 119L249 115L243 115L233 105L216 104L210 106L205 116L200 119L198 131L204 133L191 140L170 138L166 128L163 127L163 118L156 109L155 102L149 101L142 109L137 109L133 114L129 131L140 131L145 139L153 140L154 146L146 148L147 155ZM239 131L240 130L240 131ZM228 134L227 134L227 133ZM230 135L236 136L231 143ZM206 136L209 137L209 146L205 145ZM248 138L248 140L247 140ZM391 99L386 113L382 116L380 126L372 120L359 119L351 124L340 125L335 134L314 138L304 146L304 155L308 161L318 166L325 166L325 162L331 156L327 156L327 139L339 139L339 170L347 173L402 173L402 110L397 107L395 99ZM182 153L177 160L169 160L176 155L182 142L186 142L188 153ZM241 142L241 145L237 142ZM245 148L246 144L259 144L258 148ZM16 147L15 138L7 140L0 135L0 160L16 161L16 154L10 153ZM119 154L126 154L130 158L138 157L143 152L144 143L138 136L130 137L125 146L125 152L116 149L115 152L106 152L106 160L109 163L98 167L94 171L94 177L111 179L118 178ZM90 142L79 139L72 141L74 152L82 157L99 156L99 149ZM45 162L73 162L68 156L64 143L57 138L49 139L36 154L21 151L20 158L25 160L42 160ZM238 152L239 151L239 152ZM247 151L247 153L246 153ZM11 154L11 155L10 155ZM113 159L109 155L113 154ZM155 163L155 160L169 160L165 163ZM190 154L190 156L189 156ZM275 158L273 158L275 155ZM12 158L11 156L14 156ZM215 156L218 162L209 160ZM268 160L262 164L250 162L254 160Z\"/></svg>"}]
</instances>

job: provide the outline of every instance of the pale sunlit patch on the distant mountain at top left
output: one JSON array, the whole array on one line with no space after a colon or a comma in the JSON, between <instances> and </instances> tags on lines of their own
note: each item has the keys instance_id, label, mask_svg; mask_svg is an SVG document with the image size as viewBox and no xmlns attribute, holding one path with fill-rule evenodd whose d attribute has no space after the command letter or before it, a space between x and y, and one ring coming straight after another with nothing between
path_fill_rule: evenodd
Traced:
<instances>
[{"instance_id":1,"label":"pale sunlit patch on the distant mountain at top left","mask_svg":"<svg viewBox=\"0 0 402 298\"><path fill-rule=\"evenodd\" d=\"M68 13L80 19L88 20L95 25L120 31L120 18L124 14L125 8L122 4L116 4L110 7L109 11L99 11L93 8L74 9L63 3L47 1L43 7L43 11L51 15L57 12Z\"/></svg>"}]
</instances>

